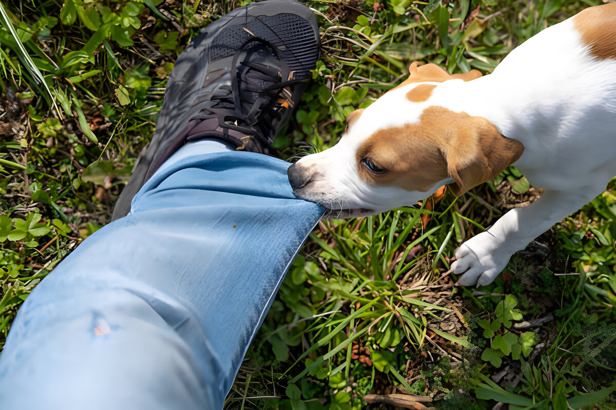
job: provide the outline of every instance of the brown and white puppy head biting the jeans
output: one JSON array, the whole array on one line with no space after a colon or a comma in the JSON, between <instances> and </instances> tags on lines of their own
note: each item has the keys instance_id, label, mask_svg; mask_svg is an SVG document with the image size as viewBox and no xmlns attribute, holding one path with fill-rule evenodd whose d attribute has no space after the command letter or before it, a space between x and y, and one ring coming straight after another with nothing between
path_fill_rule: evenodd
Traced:
<instances>
[{"instance_id":1,"label":"brown and white puppy head biting the jeans","mask_svg":"<svg viewBox=\"0 0 616 410\"><path fill-rule=\"evenodd\" d=\"M413 63L403 84L347 117L338 144L291 165L294 194L346 218L412 205L444 184L461 195L494 178L524 146L485 118L437 104L445 81L480 75Z\"/></svg>"}]
</instances>

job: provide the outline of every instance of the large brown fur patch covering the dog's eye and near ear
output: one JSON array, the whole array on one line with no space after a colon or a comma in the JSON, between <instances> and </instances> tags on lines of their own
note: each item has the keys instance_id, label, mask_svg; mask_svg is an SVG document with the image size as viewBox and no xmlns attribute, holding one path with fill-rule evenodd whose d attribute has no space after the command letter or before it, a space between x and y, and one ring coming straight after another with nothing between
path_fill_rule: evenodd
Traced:
<instances>
[{"instance_id":1,"label":"large brown fur patch covering the dog's eye and near ear","mask_svg":"<svg viewBox=\"0 0 616 410\"><path fill-rule=\"evenodd\" d=\"M424 109L418 124L379 130L357 150L357 169L368 184L426 192L447 177L460 196L494 178L524 152L522 143L506 138L483 117L440 106ZM384 173L363 165L370 159Z\"/></svg>"}]
</instances>

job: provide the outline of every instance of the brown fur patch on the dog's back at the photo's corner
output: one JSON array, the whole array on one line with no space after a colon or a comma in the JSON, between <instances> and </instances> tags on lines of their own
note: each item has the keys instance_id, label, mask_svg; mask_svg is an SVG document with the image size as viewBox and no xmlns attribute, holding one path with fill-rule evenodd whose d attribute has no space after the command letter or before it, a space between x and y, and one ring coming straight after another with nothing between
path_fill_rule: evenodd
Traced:
<instances>
[{"instance_id":1,"label":"brown fur patch on the dog's back at the photo's corner","mask_svg":"<svg viewBox=\"0 0 616 410\"><path fill-rule=\"evenodd\" d=\"M616 59L616 3L588 7L573 17L575 30L600 60Z\"/></svg>"}]
</instances>

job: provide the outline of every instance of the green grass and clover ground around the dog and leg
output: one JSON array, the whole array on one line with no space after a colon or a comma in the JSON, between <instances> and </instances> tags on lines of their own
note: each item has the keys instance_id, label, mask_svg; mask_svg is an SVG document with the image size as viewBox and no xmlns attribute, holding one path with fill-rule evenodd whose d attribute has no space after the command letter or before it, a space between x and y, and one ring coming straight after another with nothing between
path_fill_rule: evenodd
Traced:
<instances>
[{"instance_id":1,"label":"green grass and clover ground around the dog and leg","mask_svg":"<svg viewBox=\"0 0 616 410\"><path fill-rule=\"evenodd\" d=\"M489 73L517 44L599 1L443 3L306 1L318 14L322 59L275 141L278 156L334 144L345 117L399 84L413 60ZM0 5L0 345L36 283L110 220L177 55L200 26L240 4ZM429 396L424 404L439 409L495 400L510 409L616 408L610 189L474 291L453 286L449 257L537 198L515 168L458 199L447 192L417 208L322 221L225 408L360 409L364 397L382 399L368 394L392 392Z\"/></svg>"}]
</instances>

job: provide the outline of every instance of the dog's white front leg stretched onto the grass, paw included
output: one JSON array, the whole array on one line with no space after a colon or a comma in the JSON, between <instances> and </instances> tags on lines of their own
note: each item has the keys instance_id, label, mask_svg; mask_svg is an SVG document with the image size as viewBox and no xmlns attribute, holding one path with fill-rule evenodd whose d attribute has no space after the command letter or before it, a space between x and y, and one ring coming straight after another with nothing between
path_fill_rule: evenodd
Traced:
<instances>
[{"instance_id":1,"label":"dog's white front leg stretched onto the grass, paw included","mask_svg":"<svg viewBox=\"0 0 616 410\"><path fill-rule=\"evenodd\" d=\"M453 273L463 286L487 285L505 269L511 256L558 221L593 200L604 187L546 191L537 202L501 216L487 231L464 242L455 253Z\"/></svg>"}]
</instances>

